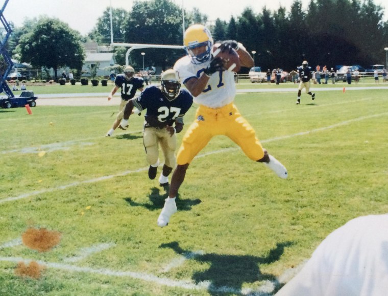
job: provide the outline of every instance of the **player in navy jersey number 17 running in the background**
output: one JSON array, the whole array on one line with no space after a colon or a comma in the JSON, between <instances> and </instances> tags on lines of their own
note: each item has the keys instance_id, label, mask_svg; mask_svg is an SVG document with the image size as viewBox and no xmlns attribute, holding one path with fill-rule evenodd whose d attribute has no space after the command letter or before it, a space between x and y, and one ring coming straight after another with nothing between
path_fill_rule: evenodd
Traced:
<instances>
[{"instance_id":1,"label":"player in navy jersey number 17 running in the background","mask_svg":"<svg viewBox=\"0 0 388 296\"><path fill-rule=\"evenodd\" d=\"M126 66L124 69L124 74L118 74L116 79L114 80L115 86L113 87L110 95L108 97L108 101L112 100L113 95L117 92L117 89L121 88L121 97L122 100L120 102L120 106L118 109L118 114L116 116L116 120L113 123L112 128L108 131L106 136L111 136L114 130L120 124L120 121L123 119L124 115L124 107L127 105L128 101L132 99L137 90L142 92L144 87L144 80L140 77L134 77L135 70L131 66ZM139 113L135 110L135 113Z\"/></svg>"}]
</instances>

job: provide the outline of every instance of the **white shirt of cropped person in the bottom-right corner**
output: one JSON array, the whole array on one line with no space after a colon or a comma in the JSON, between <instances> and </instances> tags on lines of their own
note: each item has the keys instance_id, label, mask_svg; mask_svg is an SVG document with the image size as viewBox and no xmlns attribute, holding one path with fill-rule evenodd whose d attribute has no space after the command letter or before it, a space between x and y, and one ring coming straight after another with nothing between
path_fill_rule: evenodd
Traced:
<instances>
[{"instance_id":1,"label":"white shirt of cropped person in the bottom-right corner","mask_svg":"<svg viewBox=\"0 0 388 296\"><path fill-rule=\"evenodd\" d=\"M333 231L276 296L388 294L388 215L358 217Z\"/></svg>"}]
</instances>

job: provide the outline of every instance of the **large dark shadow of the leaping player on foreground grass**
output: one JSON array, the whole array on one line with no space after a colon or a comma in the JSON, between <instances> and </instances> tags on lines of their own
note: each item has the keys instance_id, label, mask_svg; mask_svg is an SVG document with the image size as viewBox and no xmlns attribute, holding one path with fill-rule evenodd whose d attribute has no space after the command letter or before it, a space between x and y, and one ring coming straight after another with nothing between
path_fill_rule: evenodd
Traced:
<instances>
[{"instance_id":1,"label":"large dark shadow of the leaping player on foreground grass","mask_svg":"<svg viewBox=\"0 0 388 296\"><path fill-rule=\"evenodd\" d=\"M220 255L220 254L199 254L182 249L179 242L161 244L160 248L171 248L179 255L189 260L196 260L200 263L208 263L209 269L196 271L192 279L198 284L209 281L208 292L212 295L241 293L244 283L254 283L256 281L271 281L273 291L268 295L279 290L281 284L276 276L272 274L262 274L260 264L272 264L280 259L284 253L284 248L293 245L293 242L277 243L276 247L271 249L267 256L256 257L251 255ZM262 293L263 295L265 293ZM261 295L261 294L260 294Z\"/></svg>"}]
</instances>

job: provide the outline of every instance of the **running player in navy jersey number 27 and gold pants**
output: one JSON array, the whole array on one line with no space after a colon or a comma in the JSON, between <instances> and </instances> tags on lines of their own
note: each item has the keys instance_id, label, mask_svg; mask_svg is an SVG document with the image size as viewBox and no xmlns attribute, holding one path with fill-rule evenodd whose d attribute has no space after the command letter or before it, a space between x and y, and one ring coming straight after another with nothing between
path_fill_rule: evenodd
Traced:
<instances>
[{"instance_id":1,"label":"running player in navy jersey number 27 and gold pants","mask_svg":"<svg viewBox=\"0 0 388 296\"><path fill-rule=\"evenodd\" d=\"M119 128L126 129L133 107L139 111L147 109L144 119L143 144L150 164L148 176L155 179L159 166L159 145L164 154L164 165L159 177L160 186L168 185L168 175L176 165L176 133L183 129L183 116L190 109L192 96L180 89L173 69L161 75L160 86L149 86L139 97L129 100Z\"/></svg>"}]
</instances>

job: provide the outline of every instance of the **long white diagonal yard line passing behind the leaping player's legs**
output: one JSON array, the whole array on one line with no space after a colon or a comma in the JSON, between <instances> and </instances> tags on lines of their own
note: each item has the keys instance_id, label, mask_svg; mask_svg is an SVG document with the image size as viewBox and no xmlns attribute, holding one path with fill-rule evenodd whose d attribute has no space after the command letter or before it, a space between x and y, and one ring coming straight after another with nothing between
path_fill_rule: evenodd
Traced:
<instances>
[{"instance_id":1,"label":"long white diagonal yard line passing behind the leaping player's legs","mask_svg":"<svg viewBox=\"0 0 388 296\"><path fill-rule=\"evenodd\" d=\"M298 133L294 133L294 134L289 134L289 135L278 136L278 137L271 138L271 139L261 140L260 142L261 143L269 143L269 142L272 142L272 141L284 140L284 139L288 139L288 138L293 138L294 136L300 136L300 135L305 135L305 134L309 134L309 133L313 133L313 132L324 131L324 130L332 129L332 128L335 128L335 127L338 127L338 126L347 125L349 123L353 123L353 122L357 122L357 121L361 121L361 120L366 120L366 119L371 119L371 118L376 118L376 117L381 117L381 116L386 116L386 115L388 115L388 112L374 114L374 115L369 115L369 116L362 116L362 117L359 117L359 118L350 119L350 120L346 120L346 121L343 121L343 122L338 122L336 124L332 124L332 125L325 126L325 127L320 127L320 128L316 128L316 129L312 129L312 130L308 130L308 131L302 131L302 132L298 132ZM240 148L239 147L231 147L231 148L225 148L225 149L210 151L210 152L207 152L207 153L203 153L203 154L197 155L195 158L200 158L200 157L204 157L204 156L215 154L215 153L223 153L223 152L237 150L237 149L240 149ZM75 186L78 186L78 185L81 185L81 184L88 184L88 183L95 183L95 182L99 182L99 181L105 181L105 180L108 180L108 179L111 179L111 178L114 178L114 177L126 176L126 175L131 174L131 173L138 173L138 172L142 172L142 171L146 171L146 170L148 170L148 167L140 168L140 169L137 169L137 170L125 171L125 172L118 173L118 174L115 174L115 175L102 176L102 177L98 177L98 178L94 178L94 179L90 179L90 180L84 180L84 181L80 181L80 182L70 183L70 184L67 184L67 185L58 186L58 187L54 187L54 188L49 188L49 189L43 189L43 190L39 190L39 191L29 192L29 193L21 194L21 195L18 195L18 196L1 199L0 203L7 202L7 201L12 201L12 200L18 200L18 199L22 199L22 198L27 198L27 197L38 195L38 194L41 194L41 193L53 192L53 191L56 191L56 190L63 190L63 189L67 189L67 188L70 188L70 187L75 187Z\"/></svg>"}]
</instances>

